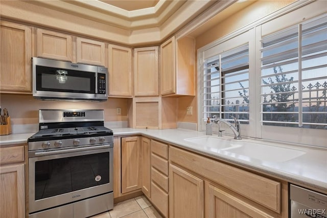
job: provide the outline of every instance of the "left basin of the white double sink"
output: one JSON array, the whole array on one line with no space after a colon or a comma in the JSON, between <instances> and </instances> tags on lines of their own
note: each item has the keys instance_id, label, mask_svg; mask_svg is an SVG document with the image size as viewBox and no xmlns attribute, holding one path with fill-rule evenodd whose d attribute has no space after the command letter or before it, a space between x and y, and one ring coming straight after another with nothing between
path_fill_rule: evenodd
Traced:
<instances>
[{"instance_id":1,"label":"left basin of the white double sink","mask_svg":"<svg viewBox=\"0 0 327 218\"><path fill-rule=\"evenodd\" d=\"M187 142L195 143L197 145L216 148L217 150L225 150L230 148L237 148L242 146L240 143L236 143L234 141L214 137L214 136L204 136L204 137L196 137L184 139Z\"/></svg>"}]
</instances>

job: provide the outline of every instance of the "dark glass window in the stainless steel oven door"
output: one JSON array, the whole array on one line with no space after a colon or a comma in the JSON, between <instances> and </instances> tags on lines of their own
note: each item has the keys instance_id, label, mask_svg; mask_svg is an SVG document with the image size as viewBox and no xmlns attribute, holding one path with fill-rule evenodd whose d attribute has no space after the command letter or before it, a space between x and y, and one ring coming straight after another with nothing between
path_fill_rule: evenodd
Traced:
<instances>
[{"instance_id":1,"label":"dark glass window in the stainless steel oven door","mask_svg":"<svg viewBox=\"0 0 327 218\"><path fill-rule=\"evenodd\" d=\"M35 162L35 200L109 183L109 152Z\"/></svg>"}]
</instances>

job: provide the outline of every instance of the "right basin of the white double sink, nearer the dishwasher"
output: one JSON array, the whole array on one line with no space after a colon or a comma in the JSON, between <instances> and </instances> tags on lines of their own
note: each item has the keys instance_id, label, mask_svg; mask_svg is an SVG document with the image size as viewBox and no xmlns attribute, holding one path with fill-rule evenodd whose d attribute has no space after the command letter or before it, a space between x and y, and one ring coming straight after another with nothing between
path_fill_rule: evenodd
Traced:
<instances>
[{"instance_id":1,"label":"right basin of the white double sink, nearer the dishwasher","mask_svg":"<svg viewBox=\"0 0 327 218\"><path fill-rule=\"evenodd\" d=\"M228 149L228 152L262 161L286 162L306 154L305 151L256 142L242 142L242 146Z\"/></svg>"}]
</instances>

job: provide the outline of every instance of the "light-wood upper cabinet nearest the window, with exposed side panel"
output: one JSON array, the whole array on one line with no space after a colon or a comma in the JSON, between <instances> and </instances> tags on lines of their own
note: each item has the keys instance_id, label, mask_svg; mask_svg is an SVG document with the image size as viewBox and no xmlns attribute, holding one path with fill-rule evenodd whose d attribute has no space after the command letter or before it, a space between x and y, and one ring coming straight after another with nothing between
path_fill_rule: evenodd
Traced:
<instances>
[{"instance_id":1,"label":"light-wood upper cabinet nearest the window, with exposed side panel","mask_svg":"<svg viewBox=\"0 0 327 218\"><path fill-rule=\"evenodd\" d=\"M195 95L195 39L171 37L160 46L160 94Z\"/></svg>"}]
</instances>

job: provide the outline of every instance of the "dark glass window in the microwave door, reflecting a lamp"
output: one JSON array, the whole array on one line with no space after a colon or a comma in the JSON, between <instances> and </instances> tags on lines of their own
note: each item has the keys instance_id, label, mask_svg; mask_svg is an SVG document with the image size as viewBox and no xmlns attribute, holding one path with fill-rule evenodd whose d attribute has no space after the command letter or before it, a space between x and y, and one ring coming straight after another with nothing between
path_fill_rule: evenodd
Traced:
<instances>
[{"instance_id":1,"label":"dark glass window in the microwave door, reflecting a lamp","mask_svg":"<svg viewBox=\"0 0 327 218\"><path fill-rule=\"evenodd\" d=\"M95 72L36 66L38 91L96 93Z\"/></svg>"}]
</instances>

